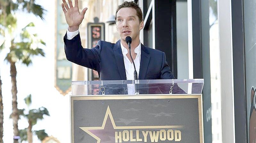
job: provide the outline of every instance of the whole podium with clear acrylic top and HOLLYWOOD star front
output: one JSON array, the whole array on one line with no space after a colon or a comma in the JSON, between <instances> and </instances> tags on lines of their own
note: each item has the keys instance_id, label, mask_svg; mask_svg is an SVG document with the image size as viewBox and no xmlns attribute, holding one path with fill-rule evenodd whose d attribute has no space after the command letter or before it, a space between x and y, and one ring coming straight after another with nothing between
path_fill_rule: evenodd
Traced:
<instances>
[{"instance_id":1,"label":"whole podium with clear acrylic top and HOLLYWOOD star front","mask_svg":"<svg viewBox=\"0 0 256 143\"><path fill-rule=\"evenodd\" d=\"M203 143L203 84L203 79L73 81L71 143Z\"/></svg>"}]
</instances>

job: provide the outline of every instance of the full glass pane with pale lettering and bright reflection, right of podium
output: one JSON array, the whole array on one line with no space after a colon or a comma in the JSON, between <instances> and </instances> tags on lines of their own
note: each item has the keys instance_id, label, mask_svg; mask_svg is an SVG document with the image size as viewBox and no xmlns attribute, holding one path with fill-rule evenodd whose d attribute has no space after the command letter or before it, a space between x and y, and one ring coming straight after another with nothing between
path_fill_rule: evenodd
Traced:
<instances>
[{"instance_id":1,"label":"full glass pane with pale lettering and bright reflection, right of podium","mask_svg":"<svg viewBox=\"0 0 256 143\"><path fill-rule=\"evenodd\" d=\"M201 1L204 142L222 142L217 0Z\"/></svg>"}]
</instances>

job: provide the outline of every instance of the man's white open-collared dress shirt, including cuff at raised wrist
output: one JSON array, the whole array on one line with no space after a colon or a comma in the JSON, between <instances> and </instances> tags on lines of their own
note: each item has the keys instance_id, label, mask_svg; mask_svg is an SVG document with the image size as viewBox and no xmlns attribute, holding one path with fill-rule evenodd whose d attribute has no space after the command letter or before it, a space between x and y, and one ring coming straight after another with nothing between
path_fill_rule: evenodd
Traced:
<instances>
[{"instance_id":1,"label":"man's white open-collared dress shirt, including cuff at raised wrist","mask_svg":"<svg viewBox=\"0 0 256 143\"><path fill-rule=\"evenodd\" d=\"M67 39L73 39L77 34L79 33L79 30L75 32L69 32L67 30ZM128 50L122 45L120 42L120 46L122 49L122 54L124 57L124 66L125 66L125 73L126 73L126 79L127 80L134 80L134 66L133 63L130 62L130 60L127 57ZM135 68L139 77L139 71L140 71L140 57L141 57L141 44L139 44L135 49L134 52L137 54L136 58L134 59L134 64ZM128 94L129 95L134 95L135 89L134 89L134 84L128 84Z\"/></svg>"}]
</instances>

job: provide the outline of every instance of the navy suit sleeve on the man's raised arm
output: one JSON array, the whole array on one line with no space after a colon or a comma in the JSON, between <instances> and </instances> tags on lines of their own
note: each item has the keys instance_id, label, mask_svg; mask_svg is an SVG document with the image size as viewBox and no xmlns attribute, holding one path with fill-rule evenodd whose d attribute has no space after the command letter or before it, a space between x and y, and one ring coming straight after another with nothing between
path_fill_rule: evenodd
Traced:
<instances>
[{"instance_id":1,"label":"navy suit sleeve on the man's raised arm","mask_svg":"<svg viewBox=\"0 0 256 143\"><path fill-rule=\"evenodd\" d=\"M64 44L67 60L96 71L100 70L101 41L98 41L97 45L92 49L86 49L82 47L79 33L70 40L67 39L66 33L64 36Z\"/></svg>"}]
</instances>

